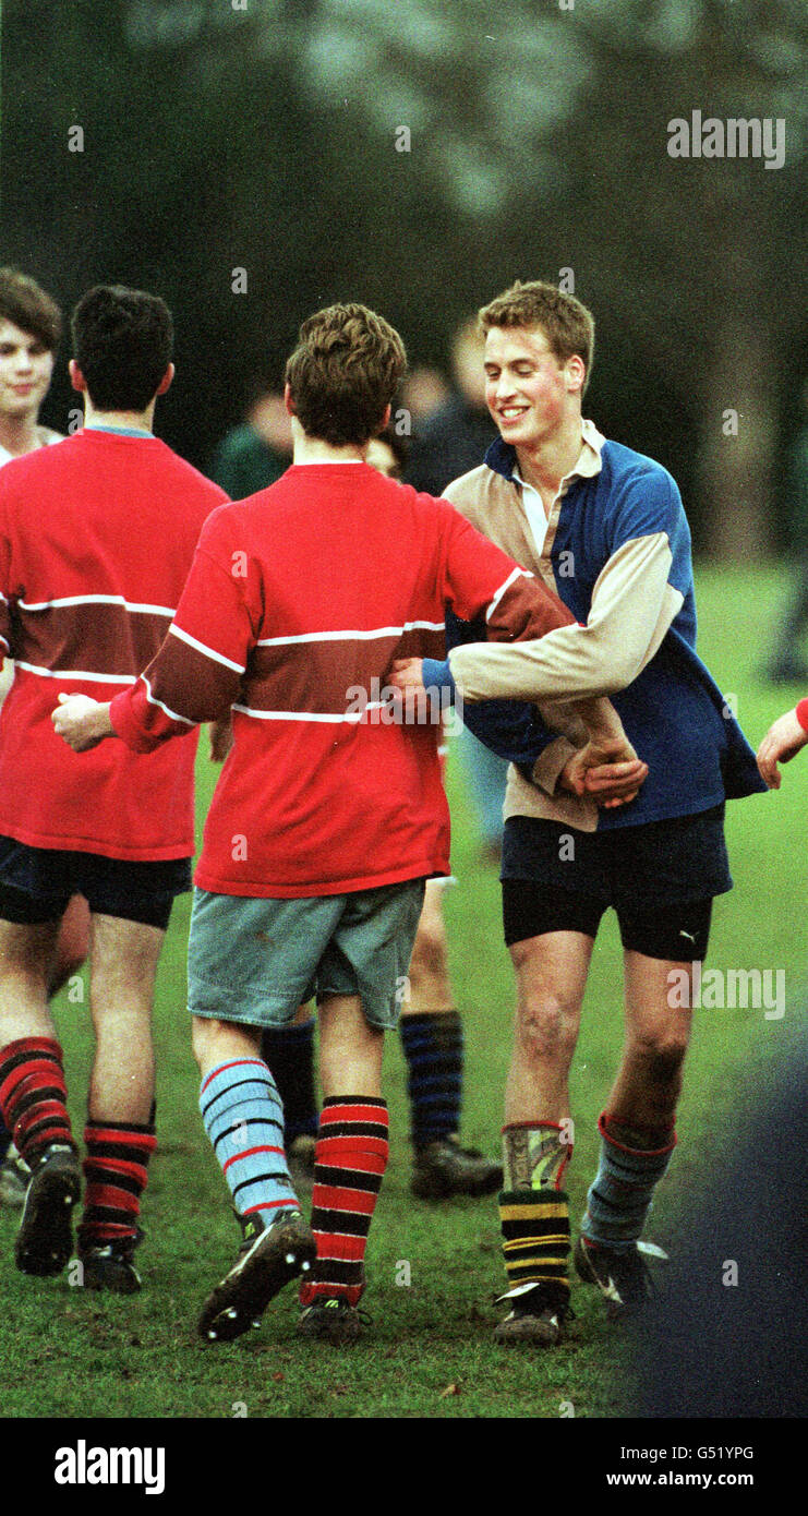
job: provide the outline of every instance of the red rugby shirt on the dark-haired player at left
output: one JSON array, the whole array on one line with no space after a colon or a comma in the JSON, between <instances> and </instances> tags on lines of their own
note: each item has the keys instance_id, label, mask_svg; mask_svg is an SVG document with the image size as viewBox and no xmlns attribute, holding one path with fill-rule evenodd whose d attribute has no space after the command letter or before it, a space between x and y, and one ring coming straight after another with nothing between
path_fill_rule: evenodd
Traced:
<instances>
[{"instance_id":1,"label":"red rugby shirt on the dark-haired player at left","mask_svg":"<svg viewBox=\"0 0 808 1516\"><path fill-rule=\"evenodd\" d=\"M61 691L111 700L135 682L226 499L156 437L94 428L0 470L0 653L15 659L0 834L135 861L194 852L194 734L79 756L50 716Z\"/></svg>"}]
</instances>

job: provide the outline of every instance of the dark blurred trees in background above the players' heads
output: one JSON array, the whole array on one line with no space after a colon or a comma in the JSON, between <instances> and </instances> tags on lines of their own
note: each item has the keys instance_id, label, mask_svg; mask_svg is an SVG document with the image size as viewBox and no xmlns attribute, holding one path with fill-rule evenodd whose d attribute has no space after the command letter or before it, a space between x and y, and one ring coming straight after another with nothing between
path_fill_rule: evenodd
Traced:
<instances>
[{"instance_id":1,"label":"dark blurred trees in background above the players' heads","mask_svg":"<svg viewBox=\"0 0 808 1516\"><path fill-rule=\"evenodd\" d=\"M443 364L506 282L572 270L588 412L672 468L702 546L769 550L808 374L803 0L561 5L3 0L0 256L65 306L168 300L159 429L202 467L315 306ZM693 109L782 118L785 165L672 159ZM62 374L47 418L70 403Z\"/></svg>"}]
</instances>

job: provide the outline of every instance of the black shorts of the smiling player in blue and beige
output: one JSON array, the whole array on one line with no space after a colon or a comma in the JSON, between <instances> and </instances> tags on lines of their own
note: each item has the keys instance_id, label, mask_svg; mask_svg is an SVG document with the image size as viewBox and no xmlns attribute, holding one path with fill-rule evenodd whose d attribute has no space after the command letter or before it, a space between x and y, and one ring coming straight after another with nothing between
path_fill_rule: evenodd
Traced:
<instances>
[{"instance_id":1,"label":"black shorts of the smiling player in blue and beige","mask_svg":"<svg viewBox=\"0 0 808 1516\"><path fill-rule=\"evenodd\" d=\"M544 932L596 937L617 911L623 948L672 963L706 954L712 897L732 888L723 805L644 826L579 832L512 816L502 846L508 946Z\"/></svg>"}]
</instances>

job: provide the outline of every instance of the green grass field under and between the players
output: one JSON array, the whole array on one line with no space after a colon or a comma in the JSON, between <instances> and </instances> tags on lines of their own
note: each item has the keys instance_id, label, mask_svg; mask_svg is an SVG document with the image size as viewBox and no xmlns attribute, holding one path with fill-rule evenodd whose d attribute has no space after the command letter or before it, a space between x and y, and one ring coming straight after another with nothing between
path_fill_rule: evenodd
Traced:
<instances>
[{"instance_id":1,"label":"green grass field under and between the players","mask_svg":"<svg viewBox=\"0 0 808 1516\"><path fill-rule=\"evenodd\" d=\"M756 746L791 691L758 679L764 637L781 600L773 568L699 573L702 656ZM797 693L797 691L794 691ZM200 760L200 802L212 770ZM800 835L808 772L787 770L778 796L729 807L735 890L719 901L709 964L770 967L787 975L787 1013L703 1011L697 1017L679 1149L649 1228L676 1249L706 1175L708 1155L785 1057L805 981L808 857ZM509 1051L512 984L500 940L499 885L476 861L468 816L450 773L455 817L447 919L458 1005L465 1014L464 1135L499 1149L502 1088ZM374 1326L353 1351L294 1337L293 1289L268 1308L262 1328L230 1346L205 1349L194 1320L238 1240L221 1175L197 1111L197 1076L185 1011L188 897L174 913L158 982L159 1152L146 1196L144 1289L135 1299L85 1295L68 1275L35 1281L17 1273L17 1214L0 1211L5 1416L159 1417L612 1417L629 1410L631 1366L597 1301L575 1289L578 1320L552 1352L497 1349L493 1296L502 1289L496 1201L444 1205L411 1199L405 1070L390 1037L387 1095L391 1163L373 1223L364 1305ZM224 944L226 951L226 944ZM83 1005L56 1007L67 1049L71 1114L83 1125L91 1035ZM620 952L606 917L587 993L575 1067L576 1154L573 1214L582 1208L596 1158L594 1122L620 1049ZM712 1157L712 1161L714 1157ZM409 1287L396 1283L411 1266ZM620 1372L614 1372L620 1370ZM565 1407L565 1410L562 1410Z\"/></svg>"}]
</instances>

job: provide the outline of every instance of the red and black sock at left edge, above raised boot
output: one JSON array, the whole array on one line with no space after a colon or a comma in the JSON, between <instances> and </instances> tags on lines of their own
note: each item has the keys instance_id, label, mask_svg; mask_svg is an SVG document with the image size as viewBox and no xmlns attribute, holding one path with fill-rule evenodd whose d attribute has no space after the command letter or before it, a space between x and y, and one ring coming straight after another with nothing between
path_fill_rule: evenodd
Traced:
<instances>
[{"instance_id":1,"label":"red and black sock at left edge, above raised boot","mask_svg":"<svg viewBox=\"0 0 808 1516\"><path fill-rule=\"evenodd\" d=\"M0 1111L27 1164L52 1142L76 1149L67 1114L62 1049L53 1037L20 1037L0 1054Z\"/></svg>"}]
</instances>

